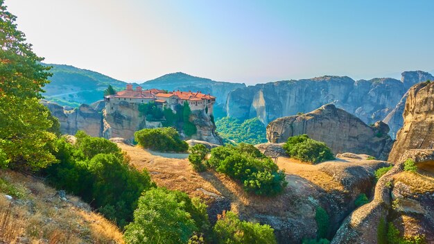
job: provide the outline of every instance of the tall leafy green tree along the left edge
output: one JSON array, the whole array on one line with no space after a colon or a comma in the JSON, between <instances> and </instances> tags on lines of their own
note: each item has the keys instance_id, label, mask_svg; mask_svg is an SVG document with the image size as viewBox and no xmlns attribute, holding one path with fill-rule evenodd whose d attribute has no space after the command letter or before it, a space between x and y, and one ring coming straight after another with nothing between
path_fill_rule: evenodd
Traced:
<instances>
[{"instance_id":1,"label":"tall leafy green tree along the left edge","mask_svg":"<svg viewBox=\"0 0 434 244\"><path fill-rule=\"evenodd\" d=\"M0 166L36 171L55 162L53 121L39 103L51 73L15 20L0 0Z\"/></svg>"}]
</instances>

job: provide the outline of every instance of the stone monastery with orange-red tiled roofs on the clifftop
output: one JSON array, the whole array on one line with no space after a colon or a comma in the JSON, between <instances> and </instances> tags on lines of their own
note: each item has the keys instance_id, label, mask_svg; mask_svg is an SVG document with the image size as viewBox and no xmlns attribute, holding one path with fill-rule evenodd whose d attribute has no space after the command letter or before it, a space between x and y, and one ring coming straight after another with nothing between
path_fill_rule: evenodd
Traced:
<instances>
[{"instance_id":1,"label":"stone monastery with orange-red tiled roofs on the clifftop","mask_svg":"<svg viewBox=\"0 0 434 244\"><path fill-rule=\"evenodd\" d=\"M205 110L209 115L213 112L216 97L201 92L166 92L159 89L143 90L141 87L136 87L134 90L132 85L128 84L127 89L117 92L114 95L104 96L105 111L107 114L115 112L121 103L155 103L158 107L169 107L175 111L175 106L184 102L189 103L191 111Z\"/></svg>"}]
</instances>

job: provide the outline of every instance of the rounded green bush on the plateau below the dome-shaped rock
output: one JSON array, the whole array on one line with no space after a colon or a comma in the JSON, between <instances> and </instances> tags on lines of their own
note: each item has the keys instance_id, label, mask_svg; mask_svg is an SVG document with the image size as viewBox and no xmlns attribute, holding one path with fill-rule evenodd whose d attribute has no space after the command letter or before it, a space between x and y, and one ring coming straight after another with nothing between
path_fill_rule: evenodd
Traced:
<instances>
[{"instance_id":1,"label":"rounded green bush on the plateau below the dome-shaped rock","mask_svg":"<svg viewBox=\"0 0 434 244\"><path fill-rule=\"evenodd\" d=\"M334 159L333 153L325 143L310 139L306 134L289 137L284 144L284 149L290 157L303 162L318 164Z\"/></svg>"}]
</instances>

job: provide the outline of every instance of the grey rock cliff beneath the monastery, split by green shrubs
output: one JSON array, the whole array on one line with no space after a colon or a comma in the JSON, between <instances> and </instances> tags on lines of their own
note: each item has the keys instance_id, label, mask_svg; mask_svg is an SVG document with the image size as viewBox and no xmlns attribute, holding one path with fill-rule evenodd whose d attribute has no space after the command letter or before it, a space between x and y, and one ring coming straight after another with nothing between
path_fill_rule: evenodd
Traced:
<instances>
[{"instance_id":1,"label":"grey rock cliff beneath the monastery, split by green shrubs","mask_svg":"<svg viewBox=\"0 0 434 244\"><path fill-rule=\"evenodd\" d=\"M127 102L119 103L116 112L112 113L105 111L103 101L92 105L83 104L73 110L64 110L64 107L47 101L42 103L59 119L62 134L76 134L78 130L84 130L92 137L121 137L132 140L137 130L163 126L159 121L146 121L144 116L140 116L138 105ZM189 121L196 125L197 132L191 138L185 139L223 145L222 139L216 134L216 126L205 111L192 111Z\"/></svg>"}]
</instances>

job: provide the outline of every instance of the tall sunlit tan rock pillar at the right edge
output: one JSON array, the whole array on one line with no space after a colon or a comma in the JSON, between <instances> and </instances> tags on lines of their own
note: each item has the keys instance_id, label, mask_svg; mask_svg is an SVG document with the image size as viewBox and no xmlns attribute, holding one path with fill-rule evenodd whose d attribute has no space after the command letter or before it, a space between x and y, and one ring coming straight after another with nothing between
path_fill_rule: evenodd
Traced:
<instances>
[{"instance_id":1,"label":"tall sunlit tan rock pillar at the right edge","mask_svg":"<svg viewBox=\"0 0 434 244\"><path fill-rule=\"evenodd\" d=\"M396 162L405 150L434 147L434 82L422 82L408 90L403 121L390 162Z\"/></svg>"}]
</instances>

